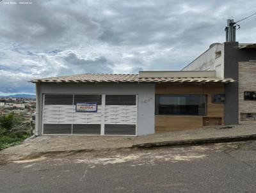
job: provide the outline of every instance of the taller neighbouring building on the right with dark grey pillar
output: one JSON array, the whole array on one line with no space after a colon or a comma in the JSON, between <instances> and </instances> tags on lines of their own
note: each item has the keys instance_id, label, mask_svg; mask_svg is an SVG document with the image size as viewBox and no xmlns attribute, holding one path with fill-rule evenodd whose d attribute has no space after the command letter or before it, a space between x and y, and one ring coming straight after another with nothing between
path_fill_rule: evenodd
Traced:
<instances>
[{"instance_id":1,"label":"taller neighbouring building on the right with dark grey pillar","mask_svg":"<svg viewBox=\"0 0 256 193\"><path fill-rule=\"evenodd\" d=\"M224 42L213 43L182 70L215 70L216 77L232 78L236 81L225 85L224 120L225 125L231 125L238 124L241 118L244 120L246 117L256 117L255 99L244 100L244 92L256 92L255 69L256 44Z\"/></svg>"}]
</instances>

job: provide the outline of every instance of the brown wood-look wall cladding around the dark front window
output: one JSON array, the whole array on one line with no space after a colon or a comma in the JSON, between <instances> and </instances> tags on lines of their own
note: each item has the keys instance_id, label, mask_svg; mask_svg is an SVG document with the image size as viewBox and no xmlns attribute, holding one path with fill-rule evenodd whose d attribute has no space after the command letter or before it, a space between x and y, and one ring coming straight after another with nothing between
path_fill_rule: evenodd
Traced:
<instances>
[{"instance_id":1,"label":"brown wood-look wall cladding around the dark front window","mask_svg":"<svg viewBox=\"0 0 256 193\"><path fill-rule=\"evenodd\" d=\"M205 84L156 84L156 94L174 95L207 95L206 116L171 116L156 115L156 132L172 132L201 128L203 117L221 118L223 124L224 104L212 104L212 95L224 93L224 86L220 83Z\"/></svg>"}]
</instances>

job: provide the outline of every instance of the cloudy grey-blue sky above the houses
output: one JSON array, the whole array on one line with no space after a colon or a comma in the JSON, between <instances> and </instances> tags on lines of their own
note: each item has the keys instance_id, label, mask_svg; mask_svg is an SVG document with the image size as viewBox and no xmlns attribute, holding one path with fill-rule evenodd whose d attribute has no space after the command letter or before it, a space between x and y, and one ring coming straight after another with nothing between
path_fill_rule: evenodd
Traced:
<instances>
[{"instance_id":1,"label":"cloudy grey-blue sky above the houses","mask_svg":"<svg viewBox=\"0 0 256 193\"><path fill-rule=\"evenodd\" d=\"M180 70L255 12L254 0L2 0L0 95L35 93L39 77ZM255 22L240 43L256 42Z\"/></svg>"}]
</instances>

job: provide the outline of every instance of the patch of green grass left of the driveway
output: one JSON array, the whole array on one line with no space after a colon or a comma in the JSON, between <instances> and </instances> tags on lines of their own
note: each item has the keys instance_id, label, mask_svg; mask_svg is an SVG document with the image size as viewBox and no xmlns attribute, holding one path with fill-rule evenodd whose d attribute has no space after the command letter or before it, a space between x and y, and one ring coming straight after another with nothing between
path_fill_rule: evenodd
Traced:
<instances>
[{"instance_id":1,"label":"patch of green grass left of the driveway","mask_svg":"<svg viewBox=\"0 0 256 193\"><path fill-rule=\"evenodd\" d=\"M0 150L20 144L24 139L30 137L29 130L18 130L9 134L0 135Z\"/></svg>"}]
</instances>

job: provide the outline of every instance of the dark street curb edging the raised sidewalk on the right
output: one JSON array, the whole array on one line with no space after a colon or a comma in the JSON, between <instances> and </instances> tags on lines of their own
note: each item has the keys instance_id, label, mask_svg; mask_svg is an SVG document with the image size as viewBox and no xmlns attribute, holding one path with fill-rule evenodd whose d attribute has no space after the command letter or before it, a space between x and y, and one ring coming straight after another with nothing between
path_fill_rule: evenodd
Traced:
<instances>
[{"instance_id":1,"label":"dark street curb edging the raised sidewalk on the right","mask_svg":"<svg viewBox=\"0 0 256 193\"><path fill-rule=\"evenodd\" d=\"M239 135L234 137L214 137L214 138L207 138L207 139L191 139L191 140L181 140L181 141L141 143L141 144L132 145L132 148L154 148L159 146L193 146L193 145L204 145L204 144L214 144L214 143L229 143L229 142L236 142L236 141L250 141L255 139L256 139L256 134Z\"/></svg>"}]
</instances>

